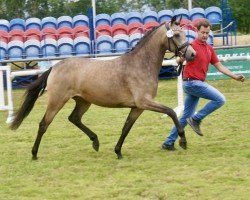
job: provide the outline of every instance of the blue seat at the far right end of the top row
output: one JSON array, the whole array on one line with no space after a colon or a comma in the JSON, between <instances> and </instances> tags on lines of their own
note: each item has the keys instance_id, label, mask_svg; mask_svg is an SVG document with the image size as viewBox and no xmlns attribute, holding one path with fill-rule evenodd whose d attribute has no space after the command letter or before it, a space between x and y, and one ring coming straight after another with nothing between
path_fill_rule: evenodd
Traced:
<instances>
[{"instance_id":1,"label":"blue seat at the far right end of the top row","mask_svg":"<svg viewBox=\"0 0 250 200\"><path fill-rule=\"evenodd\" d=\"M206 18L211 24L221 24L222 11L219 7L211 6L205 9Z\"/></svg>"}]
</instances>

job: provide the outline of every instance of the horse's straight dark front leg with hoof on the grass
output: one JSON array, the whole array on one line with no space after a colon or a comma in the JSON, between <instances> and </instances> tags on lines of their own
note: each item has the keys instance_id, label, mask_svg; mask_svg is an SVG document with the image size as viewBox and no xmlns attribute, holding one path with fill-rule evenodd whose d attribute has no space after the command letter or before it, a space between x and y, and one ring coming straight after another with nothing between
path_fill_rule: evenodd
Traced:
<instances>
[{"instance_id":1,"label":"horse's straight dark front leg with hoof on the grass","mask_svg":"<svg viewBox=\"0 0 250 200\"><path fill-rule=\"evenodd\" d=\"M122 148L122 144L123 144L125 138L127 137L133 124L138 119L138 117L142 114L142 112L143 112L142 109L131 108L130 113L127 117L127 120L123 126L122 134L121 134L121 136L120 136L120 138L115 146L115 153L116 153L118 159L122 158L121 148Z\"/></svg>"}]
</instances>

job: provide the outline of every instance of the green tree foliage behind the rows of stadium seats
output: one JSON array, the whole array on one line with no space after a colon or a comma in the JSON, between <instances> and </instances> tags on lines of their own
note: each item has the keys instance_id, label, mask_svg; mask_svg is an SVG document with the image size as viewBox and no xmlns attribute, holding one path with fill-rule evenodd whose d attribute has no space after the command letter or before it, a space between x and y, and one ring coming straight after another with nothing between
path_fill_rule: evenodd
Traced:
<instances>
[{"instance_id":1,"label":"green tree foliage behind the rows of stadium seats","mask_svg":"<svg viewBox=\"0 0 250 200\"><path fill-rule=\"evenodd\" d=\"M238 30L250 32L249 2L248 0L230 0L229 6L233 10L233 17L238 22ZM207 8L220 6L221 0L193 1L193 7ZM59 17L62 15L75 16L79 13L87 15L91 0L0 0L0 18L28 18L47 16ZM155 11L163 9L188 8L187 0L98 0L96 13L112 14L115 12L140 11L150 8Z\"/></svg>"}]
</instances>

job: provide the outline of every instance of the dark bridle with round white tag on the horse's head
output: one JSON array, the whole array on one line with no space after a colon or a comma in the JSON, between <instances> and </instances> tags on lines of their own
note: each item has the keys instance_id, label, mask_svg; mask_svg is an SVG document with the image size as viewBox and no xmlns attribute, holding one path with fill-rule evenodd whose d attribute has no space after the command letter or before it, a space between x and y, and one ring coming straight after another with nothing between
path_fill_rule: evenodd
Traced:
<instances>
[{"instance_id":1,"label":"dark bridle with round white tag on the horse's head","mask_svg":"<svg viewBox=\"0 0 250 200\"><path fill-rule=\"evenodd\" d=\"M180 56L180 57L184 57L186 55L186 52L187 52L187 48L188 46L190 45L189 42L184 42L181 46L178 47L178 45L175 43L174 39L173 39L173 36L174 36L174 31L172 29L170 29L169 27L169 23L166 24L166 29L167 29L167 38L168 38L168 49L170 49L170 41L173 42L173 44L175 45L176 47L176 50L175 50L175 56ZM182 49L185 49L184 53L181 52Z\"/></svg>"}]
</instances>

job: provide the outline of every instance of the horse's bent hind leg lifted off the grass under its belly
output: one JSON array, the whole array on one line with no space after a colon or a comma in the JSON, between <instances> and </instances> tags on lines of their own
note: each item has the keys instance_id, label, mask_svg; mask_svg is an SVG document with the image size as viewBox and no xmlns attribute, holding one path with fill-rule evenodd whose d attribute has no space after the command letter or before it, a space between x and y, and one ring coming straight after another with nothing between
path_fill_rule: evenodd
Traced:
<instances>
[{"instance_id":1,"label":"horse's bent hind leg lifted off the grass under its belly","mask_svg":"<svg viewBox=\"0 0 250 200\"><path fill-rule=\"evenodd\" d=\"M69 121L86 133L89 139L93 141L93 148L98 151L99 140L97 135L81 122L83 114L89 109L91 103L83 100L80 97L75 97L74 100L76 101L76 106L69 116Z\"/></svg>"}]
</instances>

